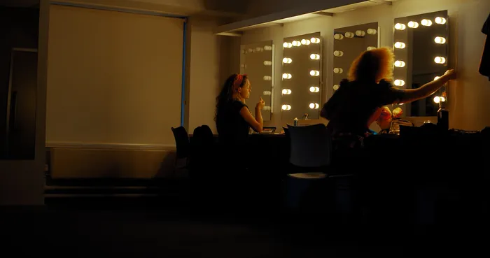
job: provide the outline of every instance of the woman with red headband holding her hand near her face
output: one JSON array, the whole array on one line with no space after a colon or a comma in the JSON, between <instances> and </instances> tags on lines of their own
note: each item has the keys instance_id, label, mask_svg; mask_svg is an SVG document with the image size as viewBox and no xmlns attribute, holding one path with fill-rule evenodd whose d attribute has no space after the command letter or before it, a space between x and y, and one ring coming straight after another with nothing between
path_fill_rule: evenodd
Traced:
<instances>
[{"instance_id":1,"label":"woman with red headband holding her hand near her face","mask_svg":"<svg viewBox=\"0 0 490 258\"><path fill-rule=\"evenodd\" d=\"M230 76L220 94L216 97L216 127L220 142L226 148L243 146L247 141L250 127L262 131L262 108L265 102L260 98L255 105L255 117L246 106L252 87L246 75L238 73Z\"/></svg>"}]
</instances>

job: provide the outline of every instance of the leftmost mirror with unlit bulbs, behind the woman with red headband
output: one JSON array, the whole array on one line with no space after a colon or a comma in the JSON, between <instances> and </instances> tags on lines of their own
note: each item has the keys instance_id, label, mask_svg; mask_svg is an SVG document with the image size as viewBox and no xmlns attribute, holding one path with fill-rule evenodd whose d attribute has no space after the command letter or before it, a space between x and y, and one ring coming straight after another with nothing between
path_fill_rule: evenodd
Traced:
<instances>
[{"instance_id":1,"label":"leftmost mirror with unlit bulbs, behind the woman with red headband","mask_svg":"<svg viewBox=\"0 0 490 258\"><path fill-rule=\"evenodd\" d=\"M272 113L272 87L274 76L274 45L272 41L263 41L241 45L240 73L247 74L252 91L248 99L249 108L255 107L262 97L265 106L262 109L262 119L269 121ZM255 113L252 112L255 116Z\"/></svg>"}]
</instances>

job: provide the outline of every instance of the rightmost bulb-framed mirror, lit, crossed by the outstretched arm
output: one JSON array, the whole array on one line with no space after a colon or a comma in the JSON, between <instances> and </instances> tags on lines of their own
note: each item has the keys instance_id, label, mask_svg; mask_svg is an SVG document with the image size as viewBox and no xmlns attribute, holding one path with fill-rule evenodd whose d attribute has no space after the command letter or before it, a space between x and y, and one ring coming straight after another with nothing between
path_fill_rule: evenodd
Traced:
<instances>
[{"instance_id":1,"label":"rightmost bulb-framed mirror, lit, crossed by the outstretched arm","mask_svg":"<svg viewBox=\"0 0 490 258\"><path fill-rule=\"evenodd\" d=\"M395 19L395 87L416 89L444 74L449 54L447 20L447 10ZM401 105L403 116L437 115L437 110L446 103L446 88L426 99Z\"/></svg>"}]
</instances>

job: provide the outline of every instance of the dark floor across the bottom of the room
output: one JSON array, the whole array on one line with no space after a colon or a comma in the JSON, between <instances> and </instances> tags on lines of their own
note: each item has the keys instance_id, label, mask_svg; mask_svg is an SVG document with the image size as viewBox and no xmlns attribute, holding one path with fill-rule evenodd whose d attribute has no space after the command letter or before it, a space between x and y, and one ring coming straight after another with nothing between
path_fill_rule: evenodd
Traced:
<instances>
[{"instance_id":1,"label":"dark floor across the bottom of the room","mask_svg":"<svg viewBox=\"0 0 490 258\"><path fill-rule=\"evenodd\" d=\"M470 222L360 227L313 214L98 200L2 208L1 249L27 257L441 257L480 252L488 235L483 225Z\"/></svg>"}]
</instances>

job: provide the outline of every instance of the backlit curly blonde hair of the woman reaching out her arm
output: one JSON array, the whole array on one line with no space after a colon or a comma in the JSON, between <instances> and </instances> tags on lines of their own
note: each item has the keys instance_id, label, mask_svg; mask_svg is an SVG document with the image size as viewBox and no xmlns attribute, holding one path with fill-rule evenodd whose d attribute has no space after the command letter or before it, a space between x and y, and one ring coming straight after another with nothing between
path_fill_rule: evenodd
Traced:
<instances>
[{"instance_id":1,"label":"backlit curly blonde hair of the woman reaching out her arm","mask_svg":"<svg viewBox=\"0 0 490 258\"><path fill-rule=\"evenodd\" d=\"M351 64L349 80L376 82L393 80L395 55L390 48L376 48L361 53Z\"/></svg>"}]
</instances>

